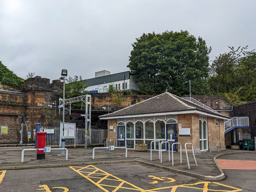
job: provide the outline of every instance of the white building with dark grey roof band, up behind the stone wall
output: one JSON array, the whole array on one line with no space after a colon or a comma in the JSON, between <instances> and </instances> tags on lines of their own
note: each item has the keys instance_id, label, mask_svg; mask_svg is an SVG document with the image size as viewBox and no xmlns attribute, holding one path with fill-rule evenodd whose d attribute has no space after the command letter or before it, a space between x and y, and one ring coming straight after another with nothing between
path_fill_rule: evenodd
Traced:
<instances>
[{"instance_id":1,"label":"white building with dark grey roof band, up behind the stone wall","mask_svg":"<svg viewBox=\"0 0 256 192\"><path fill-rule=\"evenodd\" d=\"M85 85L88 86L87 90L90 91L90 93L107 92L109 85L112 85L115 90L139 90L130 71L110 74L108 70L101 70L95 72L95 78L86 80Z\"/></svg>"}]
</instances>

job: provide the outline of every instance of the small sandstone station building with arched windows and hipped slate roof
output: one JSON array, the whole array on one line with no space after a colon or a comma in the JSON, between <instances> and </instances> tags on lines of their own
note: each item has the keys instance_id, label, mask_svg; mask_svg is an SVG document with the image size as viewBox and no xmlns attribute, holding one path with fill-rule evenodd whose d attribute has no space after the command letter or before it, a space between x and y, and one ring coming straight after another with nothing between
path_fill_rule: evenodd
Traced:
<instances>
[{"instance_id":1,"label":"small sandstone station building with arched windows and hipped slate roof","mask_svg":"<svg viewBox=\"0 0 256 192\"><path fill-rule=\"evenodd\" d=\"M143 142L149 149L151 141L160 140L169 141L170 147L171 143L180 142L183 150L189 142L195 153L225 150L224 120L229 119L169 92L99 118L107 120L107 137L115 140L115 146L134 149L137 142ZM162 148L168 149L168 145ZM152 149L158 149L158 142L153 142Z\"/></svg>"}]
</instances>

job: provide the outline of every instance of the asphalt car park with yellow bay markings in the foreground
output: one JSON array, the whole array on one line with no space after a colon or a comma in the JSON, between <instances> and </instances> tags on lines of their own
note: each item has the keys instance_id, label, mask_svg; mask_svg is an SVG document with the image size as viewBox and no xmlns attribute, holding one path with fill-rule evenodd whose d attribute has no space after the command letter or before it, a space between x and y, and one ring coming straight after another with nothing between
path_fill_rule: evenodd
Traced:
<instances>
[{"instance_id":1,"label":"asphalt car park with yellow bay markings in the foreground","mask_svg":"<svg viewBox=\"0 0 256 192\"><path fill-rule=\"evenodd\" d=\"M242 191L139 163L111 163L0 171L0 191ZM247 191L247 190L243 190Z\"/></svg>"}]
</instances>

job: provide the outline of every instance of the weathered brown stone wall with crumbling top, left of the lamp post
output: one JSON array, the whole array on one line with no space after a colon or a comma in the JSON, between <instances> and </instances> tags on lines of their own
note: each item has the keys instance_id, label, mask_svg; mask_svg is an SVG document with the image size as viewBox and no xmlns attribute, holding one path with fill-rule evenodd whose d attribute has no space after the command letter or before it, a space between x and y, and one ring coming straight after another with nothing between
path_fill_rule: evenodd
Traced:
<instances>
[{"instance_id":1,"label":"weathered brown stone wall with crumbling top, left of the lamp post","mask_svg":"<svg viewBox=\"0 0 256 192\"><path fill-rule=\"evenodd\" d=\"M52 86L49 79L37 76L25 80L22 92L0 90L0 125L8 126L8 134L0 135L0 143L17 143L20 140L21 122L18 122L18 116L21 115L24 117L23 143L27 142L25 121L29 121L28 131L31 133L37 122L43 126L59 126L61 118L56 113L57 103L52 101ZM30 142L32 140L33 134Z\"/></svg>"}]
</instances>

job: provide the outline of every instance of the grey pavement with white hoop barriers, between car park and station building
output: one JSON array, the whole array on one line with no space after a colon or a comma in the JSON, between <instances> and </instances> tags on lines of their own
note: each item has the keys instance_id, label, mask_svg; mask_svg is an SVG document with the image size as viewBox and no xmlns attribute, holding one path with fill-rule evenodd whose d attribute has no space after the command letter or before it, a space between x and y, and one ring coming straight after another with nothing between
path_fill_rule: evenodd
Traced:
<instances>
[{"instance_id":1,"label":"grey pavement with white hoop barriers, between car park and station building","mask_svg":"<svg viewBox=\"0 0 256 192\"><path fill-rule=\"evenodd\" d=\"M95 156L94 159L92 159L92 147L88 147L86 149L84 147L76 147L67 148L67 160L65 160L65 155L62 155L60 150L51 150L51 152L45 152L45 159L36 159L36 151L24 151L24 162L21 162L21 151L23 149L34 148L34 146L11 146L12 147L10 147L10 145L0 147L0 170L137 162L181 174L186 174L203 180L217 181L225 178L225 175L217 160L250 160L253 161L252 166L254 166L256 161L256 151L227 149L225 151L218 152L201 152L195 154L198 166L196 166L192 154L188 154L190 165L190 169L188 169L185 153L181 154L182 163L180 163L180 152L173 152L172 166L171 152L170 161L168 161L167 151L162 152L161 163L158 151L152 151L152 160L150 160L150 150L127 150L127 157L125 158L125 149L95 149ZM236 167L238 166L239 164Z\"/></svg>"}]
</instances>

